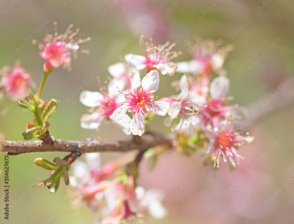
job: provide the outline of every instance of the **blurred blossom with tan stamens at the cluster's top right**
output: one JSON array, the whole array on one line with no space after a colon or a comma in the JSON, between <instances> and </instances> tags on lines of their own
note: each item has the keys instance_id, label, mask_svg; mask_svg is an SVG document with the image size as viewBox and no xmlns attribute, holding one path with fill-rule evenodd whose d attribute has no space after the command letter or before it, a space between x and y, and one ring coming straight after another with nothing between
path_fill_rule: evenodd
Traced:
<instances>
[{"instance_id":1,"label":"blurred blossom with tan stamens at the cluster's top right","mask_svg":"<svg viewBox=\"0 0 294 224\"><path fill-rule=\"evenodd\" d=\"M210 39L203 40L201 37L195 36L196 43L189 43L189 52L193 56L193 60L178 62L178 72L193 74L210 75L212 71L217 74L225 74L223 63L228 53L233 50L232 45L220 48L221 40L213 41Z\"/></svg>"}]
</instances>

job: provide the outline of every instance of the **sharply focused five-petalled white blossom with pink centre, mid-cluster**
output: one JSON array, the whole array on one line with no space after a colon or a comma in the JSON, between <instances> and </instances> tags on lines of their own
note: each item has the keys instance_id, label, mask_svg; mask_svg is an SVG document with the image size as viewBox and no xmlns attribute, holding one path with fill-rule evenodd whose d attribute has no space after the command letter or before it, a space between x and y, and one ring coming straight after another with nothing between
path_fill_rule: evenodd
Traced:
<instances>
[{"instance_id":1,"label":"sharply focused five-petalled white blossom with pink centre, mid-cluster","mask_svg":"<svg viewBox=\"0 0 294 224\"><path fill-rule=\"evenodd\" d=\"M131 112L133 114L130 122L131 132L133 135L141 136L145 131L145 117L143 114L150 114L153 111L156 115L164 116L170 106L168 102L154 101L153 93L158 90L158 84L158 71L152 70L142 81L139 73L134 72L131 90L123 89L123 92L121 92L126 101L113 112L110 118L115 121L123 120L123 115L126 112Z\"/></svg>"}]
</instances>

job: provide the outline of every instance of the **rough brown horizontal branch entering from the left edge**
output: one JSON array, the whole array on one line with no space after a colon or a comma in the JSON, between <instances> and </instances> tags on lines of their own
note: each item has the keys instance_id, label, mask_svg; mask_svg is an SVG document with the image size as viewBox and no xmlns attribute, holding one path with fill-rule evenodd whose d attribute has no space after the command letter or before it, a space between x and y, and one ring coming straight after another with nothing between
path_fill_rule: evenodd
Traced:
<instances>
[{"instance_id":1,"label":"rough brown horizontal branch entering from the left edge","mask_svg":"<svg viewBox=\"0 0 294 224\"><path fill-rule=\"evenodd\" d=\"M43 141L15 142L0 140L0 152L7 152L9 155L19 155L28 152L68 151L68 152L123 152L132 149L146 151L157 145L171 146L171 139L152 133L146 133L141 137L128 137L121 141L99 141L97 139L86 139L85 141L66 141L54 139L54 143L46 144Z\"/></svg>"}]
</instances>

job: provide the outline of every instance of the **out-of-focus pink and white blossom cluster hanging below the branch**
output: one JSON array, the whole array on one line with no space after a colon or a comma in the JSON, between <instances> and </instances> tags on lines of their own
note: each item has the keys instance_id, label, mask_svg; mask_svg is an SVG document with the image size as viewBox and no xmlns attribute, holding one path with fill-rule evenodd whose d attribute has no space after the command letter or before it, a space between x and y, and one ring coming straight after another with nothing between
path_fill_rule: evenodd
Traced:
<instances>
[{"instance_id":1,"label":"out-of-focus pink and white blossom cluster hanging below the branch","mask_svg":"<svg viewBox=\"0 0 294 224\"><path fill-rule=\"evenodd\" d=\"M136 174L121 170L126 164L129 164L127 172L133 170L135 156L130 153L103 166L100 166L99 153L87 153L87 164L76 161L72 166L74 176L69 177L74 190L68 192L73 208L88 205L100 213L100 224L163 218L167 214L161 203L163 193L157 189L145 191L134 179Z\"/></svg>"}]
</instances>

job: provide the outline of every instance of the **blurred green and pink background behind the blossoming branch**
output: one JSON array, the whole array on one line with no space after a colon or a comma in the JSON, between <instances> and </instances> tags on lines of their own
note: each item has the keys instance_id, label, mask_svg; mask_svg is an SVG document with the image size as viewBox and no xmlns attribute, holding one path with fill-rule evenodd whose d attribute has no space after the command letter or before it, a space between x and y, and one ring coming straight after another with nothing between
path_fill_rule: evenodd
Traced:
<instances>
[{"instance_id":1,"label":"blurred green and pink background behind the blossoming branch","mask_svg":"<svg viewBox=\"0 0 294 224\"><path fill-rule=\"evenodd\" d=\"M106 14L105 8L114 2L117 4ZM7 5L10 4L14 7L9 10ZM91 41L81 45L81 48L91 51L90 55L80 54L72 63L71 72L62 68L56 69L49 76L43 91L45 100L59 100L59 108L50 121L50 133L55 138L74 140L97 137L97 132L85 132L80 127L79 118L86 112L86 107L79 102L77 96L69 102L66 97L73 94L80 85L84 85L87 90L98 90L95 79L88 85L83 80L89 78L93 70L98 70L103 83L110 76L106 70L109 65L119 62L126 53L140 54L138 39L141 34L152 36L155 43L175 41L178 35L182 35L183 40L175 47L175 50L182 51L182 55L174 61L191 59L185 42L195 34L204 38L223 38L235 45L235 50L229 54L225 63L228 77L235 87L232 90L232 95L235 96L232 103L249 106L260 100L260 97L263 97L263 101L268 99L288 75L294 74L293 6L294 3L290 0L5 0L0 2L0 67L12 65L19 59L21 65L31 72L34 80L40 82L44 60L39 57L37 46L28 43L20 51L16 48L30 35L41 41L46 33L53 33L53 21L58 22L60 33L70 23L74 23L74 28L80 28L85 38L91 37ZM101 16L101 13L105 15ZM36 27L41 26L43 20L49 23L40 32L36 32ZM147 25L138 32L141 23ZM237 32L238 35L235 33L236 36L232 39L231 33L236 32L239 26L245 28ZM136 33L134 30L137 30ZM115 55L113 50L117 50L118 45L127 38L131 38L131 42ZM282 41L268 53L265 49L276 38ZM248 65L252 65L252 60L257 60L262 53L266 53L266 57L250 71ZM173 89L169 83L180 77L180 74L172 78L161 76L158 96L171 94ZM294 91L291 83L285 88L286 91ZM281 95L270 105L283 102ZM6 113L5 108L9 106L11 110ZM255 104L255 107L256 110L263 111L260 104ZM26 123L31 121L32 114L11 105L8 97L4 97L1 102L0 111L0 129L5 139L22 140L21 133L25 130ZM255 141L250 146L240 148L240 154L246 159L240 162L236 171L230 173L224 163L221 163L221 168L216 172L208 169L201 171L172 202L163 200L169 215L163 220L154 220L153 223L294 223L294 183L290 180L291 183L286 188L282 186L294 172L293 112L293 103L289 101L284 107L255 120L248 127L250 134L255 136ZM162 117L156 118L151 127L157 132L168 130L162 124ZM112 124L103 124L100 130L101 139L126 137ZM268 147L278 140L279 135L284 139L270 151ZM266 150L269 154L253 169L252 163ZM4 155L0 154L0 164L4 164ZM34 159L44 157L52 160L62 156L59 152L10 156L11 203L23 192L26 196L10 211L9 221L5 220L7 223L44 223L49 215L55 217L50 222L52 224L93 223L97 219L97 215L87 208L81 209L79 213L71 210L64 183L54 194L42 187L31 189L31 185L36 184L39 178L43 180L49 176L46 170L33 163ZM118 156L117 153L105 153L102 155L103 163ZM147 189L159 188L165 192L166 197L170 197L175 188L183 185L183 181L194 170L201 170L200 155L196 153L188 157L172 152L154 171L147 170L146 161L142 162L140 169L142 186ZM3 173L0 180L2 189ZM224 191L232 182L237 186L224 198ZM282 193L265 206L264 201L278 188L282 188ZM207 211L208 206L218 198L221 198L218 206L205 215L204 210ZM2 208L2 190L0 201ZM3 209L1 217L0 222L4 223Z\"/></svg>"}]
</instances>

